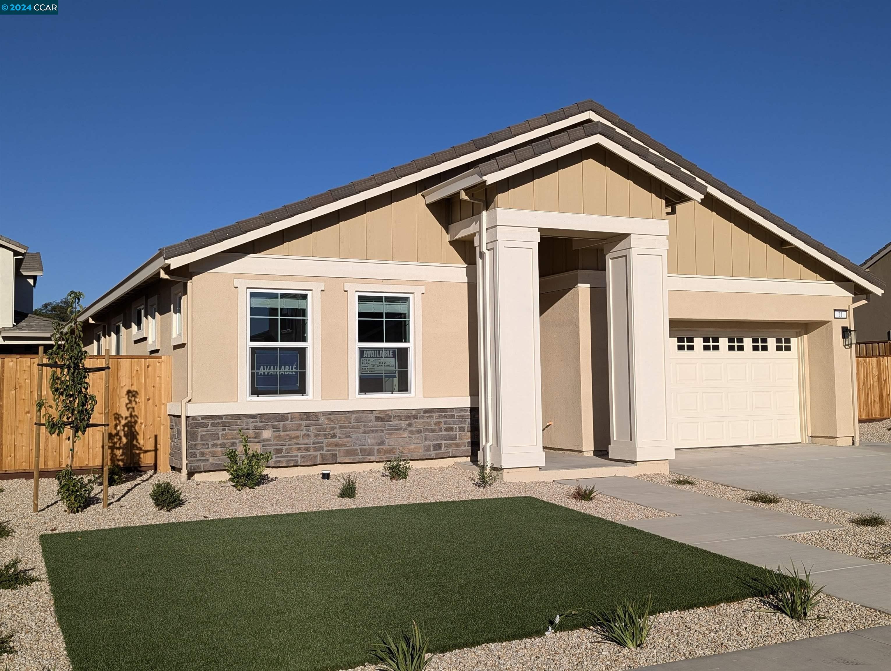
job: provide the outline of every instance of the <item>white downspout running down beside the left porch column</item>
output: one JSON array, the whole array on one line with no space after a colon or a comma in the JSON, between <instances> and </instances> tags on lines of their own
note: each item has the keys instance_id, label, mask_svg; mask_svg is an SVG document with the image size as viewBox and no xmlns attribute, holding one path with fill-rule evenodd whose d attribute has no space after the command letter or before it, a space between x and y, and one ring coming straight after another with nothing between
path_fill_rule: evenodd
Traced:
<instances>
[{"instance_id":1,"label":"white downspout running down beside the left porch column","mask_svg":"<svg viewBox=\"0 0 891 671\"><path fill-rule=\"evenodd\" d=\"M477 246L477 351L479 367L479 446L482 448L483 468L488 473L492 469L492 352L489 334L491 321L489 310L488 280L488 231L486 230L486 200L473 198L462 189L458 196L461 200L476 203L480 206L479 232Z\"/></svg>"}]
</instances>

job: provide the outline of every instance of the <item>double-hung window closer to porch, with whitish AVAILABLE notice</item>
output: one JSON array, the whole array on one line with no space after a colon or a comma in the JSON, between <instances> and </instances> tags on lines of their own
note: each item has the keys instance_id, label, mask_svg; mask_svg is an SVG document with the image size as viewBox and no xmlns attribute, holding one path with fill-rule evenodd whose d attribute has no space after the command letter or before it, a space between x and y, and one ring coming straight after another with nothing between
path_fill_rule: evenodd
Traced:
<instances>
[{"instance_id":1,"label":"double-hung window closer to porch, with whitish AVAILABLE notice","mask_svg":"<svg viewBox=\"0 0 891 671\"><path fill-rule=\"evenodd\" d=\"M359 394L412 393L412 298L356 294Z\"/></svg>"}]
</instances>

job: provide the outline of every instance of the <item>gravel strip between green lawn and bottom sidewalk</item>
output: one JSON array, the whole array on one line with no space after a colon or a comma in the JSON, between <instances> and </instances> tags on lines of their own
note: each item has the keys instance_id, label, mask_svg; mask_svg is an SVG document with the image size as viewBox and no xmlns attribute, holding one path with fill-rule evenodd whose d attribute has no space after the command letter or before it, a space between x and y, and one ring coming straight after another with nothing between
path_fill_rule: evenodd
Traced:
<instances>
[{"instance_id":1,"label":"gravel strip between green lawn and bottom sidewalk","mask_svg":"<svg viewBox=\"0 0 891 671\"><path fill-rule=\"evenodd\" d=\"M891 624L891 616L886 613L832 596L824 597L815 609L821 619L796 622L761 610L765 609L760 600L747 599L711 608L661 613L652 618L650 637L637 651L603 642L591 629L576 629L446 652L430 659L427 668L429 671L618 671ZM365 666L354 671L374 668Z\"/></svg>"}]
</instances>

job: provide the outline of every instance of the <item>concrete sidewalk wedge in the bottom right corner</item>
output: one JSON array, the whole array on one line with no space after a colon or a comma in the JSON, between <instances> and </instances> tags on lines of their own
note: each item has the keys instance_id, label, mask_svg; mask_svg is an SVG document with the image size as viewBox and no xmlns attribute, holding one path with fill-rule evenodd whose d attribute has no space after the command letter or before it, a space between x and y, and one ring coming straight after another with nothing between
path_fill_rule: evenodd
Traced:
<instances>
[{"instance_id":1,"label":"concrete sidewalk wedge in the bottom right corner","mask_svg":"<svg viewBox=\"0 0 891 671\"><path fill-rule=\"evenodd\" d=\"M891 668L891 626L658 664L666 671L830 671Z\"/></svg>"}]
</instances>

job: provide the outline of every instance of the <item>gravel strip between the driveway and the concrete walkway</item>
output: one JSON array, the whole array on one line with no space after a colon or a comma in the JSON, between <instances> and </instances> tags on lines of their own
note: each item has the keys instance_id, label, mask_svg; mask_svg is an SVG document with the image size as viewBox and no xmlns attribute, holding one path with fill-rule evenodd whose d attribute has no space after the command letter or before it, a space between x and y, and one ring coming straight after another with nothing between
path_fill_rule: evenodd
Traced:
<instances>
[{"instance_id":1,"label":"gravel strip between the driveway and the concrete walkway","mask_svg":"<svg viewBox=\"0 0 891 671\"><path fill-rule=\"evenodd\" d=\"M878 423L878 422L875 422ZM883 527L858 527L851 523L851 518L855 513L851 511L841 511L838 508L825 508L816 503L805 503L804 501L796 501L780 497L779 503L767 504L748 501L746 497L752 492L747 489L739 489L737 487L729 487L727 485L719 485L716 482L710 482L691 476L683 476L691 479L693 485L674 485L672 480L678 476L673 473L665 475L663 473L651 473L638 476L640 479L656 482L666 487L675 487L677 489L690 489L699 494L716 496L718 498L727 499L729 501L739 501L747 505L754 505L757 508L769 508L773 511L789 513L789 515L797 515L811 520L820 520L829 524L844 525L840 529L824 529L822 531L810 531L806 534L792 534L784 536L789 540L798 543L806 543L815 547L822 547L826 550L834 552L842 552L853 557L861 557L872 561L882 561L891 564L891 524Z\"/></svg>"}]
</instances>

